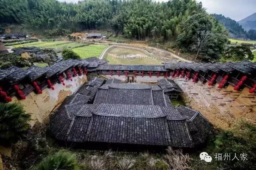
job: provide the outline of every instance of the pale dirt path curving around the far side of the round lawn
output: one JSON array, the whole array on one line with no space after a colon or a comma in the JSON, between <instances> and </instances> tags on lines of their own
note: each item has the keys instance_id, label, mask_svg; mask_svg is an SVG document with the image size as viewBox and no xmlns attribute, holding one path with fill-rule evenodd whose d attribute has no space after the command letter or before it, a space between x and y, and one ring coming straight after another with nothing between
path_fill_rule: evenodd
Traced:
<instances>
[{"instance_id":1,"label":"pale dirt path curving around the far side of the round lawn","mask_svg":"<svg viewBox=\"0 0 256 170\"><path fill-rule=\"evenodd\" d=\"M128 48L133 50L142 51L146 55L150 55L152 57L155 57L160 60L170 60L170 61L184 61L184 62L191 62L189 60L183 59L179 57L178 55L175 55L174 53L171 53L169 51L158 49L154 47L145 47L140 45L132 45L132 44L126 44L126 43L111 43L111 45L106 48L104 51L102 51L100 55L100 59L103 59L106 53L113 47L122 47L122 48Z\"/></svg>"}]
</instances>

